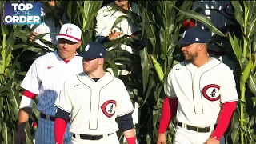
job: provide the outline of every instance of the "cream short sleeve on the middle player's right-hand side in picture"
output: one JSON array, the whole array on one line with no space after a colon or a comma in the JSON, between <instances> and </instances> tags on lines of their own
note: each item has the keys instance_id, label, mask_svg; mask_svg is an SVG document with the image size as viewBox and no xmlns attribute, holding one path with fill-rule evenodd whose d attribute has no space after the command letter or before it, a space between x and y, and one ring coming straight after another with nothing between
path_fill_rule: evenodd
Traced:
<instances>
[{"instance_id":1,"label":"cream short sleeve on the middle player's right-hand side in picture","mask_svg":"<svg viewBox=\"0 0 256 144\"><path fill-rule=\"evenodd\" d=\"M128 91L126 90L126 86L123 84L123 82L120 84L117 94L120 94L120 98L117 103L118 117L132 112L134 110L134 107L130 101L130 95L128 94Z\"/></svg>"}]
</instances>

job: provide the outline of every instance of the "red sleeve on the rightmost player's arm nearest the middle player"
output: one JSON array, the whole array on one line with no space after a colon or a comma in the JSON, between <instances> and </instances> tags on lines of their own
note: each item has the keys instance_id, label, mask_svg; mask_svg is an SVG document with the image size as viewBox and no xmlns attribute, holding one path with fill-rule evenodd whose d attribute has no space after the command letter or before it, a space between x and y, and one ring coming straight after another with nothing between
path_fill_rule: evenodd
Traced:
<instances>
[{"instance_id":1,"label":"red sleeve on the rightmost player's arm nearest the middle player","mask_svg":"<svg viewBox=\"0 0 256 144\"><path fill-rule=\"evenodd\" d=\"M162 114L159 123L159 133L165 133L170 120L177 112L178 98L166 98L162 104Z\"/></svg>"}]
</instances>

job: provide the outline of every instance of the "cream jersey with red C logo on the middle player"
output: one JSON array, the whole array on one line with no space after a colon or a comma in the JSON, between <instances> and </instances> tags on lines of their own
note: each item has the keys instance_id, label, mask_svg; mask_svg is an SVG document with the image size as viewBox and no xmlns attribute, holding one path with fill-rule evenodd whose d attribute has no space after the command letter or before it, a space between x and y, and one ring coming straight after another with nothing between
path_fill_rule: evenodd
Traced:
<instances>
[{"instance_id":1,"label":"cream jersey with red C logo on the middle player","mask_svg":"<svg viewBox=\"0 0 256 144\"><path fill-rule=\"evenodd\" d=\"M97 82L86 73L67 79L55 106L71 114L73 134L114 133L115 118L133 111L123 82L108 72Z\"/></svg>"}]
</instances>

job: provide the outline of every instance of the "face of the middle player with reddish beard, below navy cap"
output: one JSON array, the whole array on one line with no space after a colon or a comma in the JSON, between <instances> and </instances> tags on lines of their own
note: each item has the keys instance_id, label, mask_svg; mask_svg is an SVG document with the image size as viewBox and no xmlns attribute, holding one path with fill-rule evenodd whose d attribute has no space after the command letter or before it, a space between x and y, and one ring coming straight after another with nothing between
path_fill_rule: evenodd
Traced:
<instances>
[{"instance_id":1,"label":"face of the middle player with reddish beard, below navy cap","mask_svg":"<svg viewBox=\"0 0 256 144\"><path fill-rule=\"evenodd\" d=\"M87 74L91 74L96 70L98 70L99 66L102 65L102 62L104 62L103 58L94 58L94 59L83 58L82 59L83 70Z\"/></svg>"}]
</instances>

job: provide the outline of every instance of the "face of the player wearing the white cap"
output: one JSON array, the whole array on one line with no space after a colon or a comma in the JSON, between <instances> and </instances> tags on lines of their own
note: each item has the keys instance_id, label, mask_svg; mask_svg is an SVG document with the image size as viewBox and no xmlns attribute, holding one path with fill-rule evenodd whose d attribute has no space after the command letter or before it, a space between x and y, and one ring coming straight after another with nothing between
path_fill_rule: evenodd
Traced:
<instances>
[{"instance_id":1,"label":"face of the player wearing the white cap","mask_svg":"<svg viewBox=\"0 0 256 144\"><path fill-rule=\"evenodd\" d=\"M58 38L58 56L63 60L74 58L76 50L81 45L80 42L72 42L63 38Z\"/></svg>"}]
</instances>

